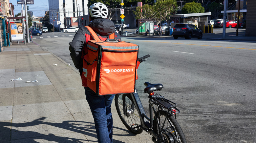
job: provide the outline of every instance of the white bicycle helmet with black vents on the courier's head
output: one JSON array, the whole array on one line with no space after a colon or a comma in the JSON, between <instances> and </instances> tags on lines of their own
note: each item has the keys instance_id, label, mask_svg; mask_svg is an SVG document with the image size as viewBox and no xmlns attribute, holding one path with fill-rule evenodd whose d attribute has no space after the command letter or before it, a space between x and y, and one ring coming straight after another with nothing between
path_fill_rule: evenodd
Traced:
<instances>
[{"instance_id":1,"label":"white bicycle helmet with black vents on the courier's head","mask_svg":"<svg viewBox=\"0 0 256 143\"><path fill-rule=\"evenodd\" d=\"M93 5L91 5L89 8L89 12L91 17L95 18L107 18L108 16L108 8L102 3L94 3Z\"/></svg>"}]
</instances>

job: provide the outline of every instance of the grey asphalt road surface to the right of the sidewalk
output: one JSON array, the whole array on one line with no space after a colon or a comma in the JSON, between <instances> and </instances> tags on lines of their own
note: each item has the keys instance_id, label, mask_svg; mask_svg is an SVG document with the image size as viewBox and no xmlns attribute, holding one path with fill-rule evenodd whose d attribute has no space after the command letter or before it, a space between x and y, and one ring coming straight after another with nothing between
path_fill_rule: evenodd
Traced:
<instances>
[{"instance_id":1,"label":"grey asphalt road surface to the right of the sidewalk","mask_svg":"<svg viewBox=\"0 0 256 143\"><path fill-rule=\"evenodd\" d=\"M54 37L57 36L57 37ZM44 33L34 42L73 66L74 33ZM40 38L43 37L43 38ZM50 38L49 38L50 37ZM150 54L138 69L136 88L147 109L144 82L178 104L188 143L256 142L256 47L253 42L122 37Z\"/></svg>"}]
</instances>

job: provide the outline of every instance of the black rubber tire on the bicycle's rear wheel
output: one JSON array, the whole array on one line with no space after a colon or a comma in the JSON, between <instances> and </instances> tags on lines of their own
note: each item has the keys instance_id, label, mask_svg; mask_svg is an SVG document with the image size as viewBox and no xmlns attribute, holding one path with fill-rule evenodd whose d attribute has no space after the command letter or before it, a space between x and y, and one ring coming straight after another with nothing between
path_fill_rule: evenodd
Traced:
<instances>
[{"instance_id":1,"label":"black rubber tire on the bicycle's rear wheel","mask_svg":"<svg viewBox=\"0 0 256 143\"><path fill-rule=\"evenodd\" d=\"M163 126L163 122L165 120L166 115L167 115L167 119ZM156 116L157 116L157 118L156 118ZM179 143L187 142L179 123L172 116L172 113L164 111L164 110L159 110L159 111L157 111L156 116L154 118L154 126L153 126L154 132L157 133L158 135L160 135L158 122L157 122L157 121L160 121L160 127L163 127L164 130L167 131L167 133L168 133L168 134L166 134L166 132L164 132L162 130L163 135L165 135L164 137L166 138L166 136L169 136L169 140L165 141L166 143L177 143L177 140L180 140ZM176 130L178 138L176 137L175 132L173 131L173 128L171 126L174 127L174 130Z\"/></svg>"}]
</instances>

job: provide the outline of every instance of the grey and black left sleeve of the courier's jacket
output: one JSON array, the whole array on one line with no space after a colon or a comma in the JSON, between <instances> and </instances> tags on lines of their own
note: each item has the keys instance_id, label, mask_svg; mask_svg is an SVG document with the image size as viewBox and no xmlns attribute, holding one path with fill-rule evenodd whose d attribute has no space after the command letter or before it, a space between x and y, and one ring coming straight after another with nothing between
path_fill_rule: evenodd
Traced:
<instances>
[{"instance_id":1,"label":"grey and black left sleeve of the courier's jacket","mask_svg":"<svg viewBox=\"0 0 256 143\"><path fill-rule=\"evenodd\" d=\"M75 33L75 36L72 42L69 43L70 56L73 60L75 67L79 70L83 68L82 52L85 44L86 44L85 30L83 28L80 28Z\"/></svg>"}]
</instances>

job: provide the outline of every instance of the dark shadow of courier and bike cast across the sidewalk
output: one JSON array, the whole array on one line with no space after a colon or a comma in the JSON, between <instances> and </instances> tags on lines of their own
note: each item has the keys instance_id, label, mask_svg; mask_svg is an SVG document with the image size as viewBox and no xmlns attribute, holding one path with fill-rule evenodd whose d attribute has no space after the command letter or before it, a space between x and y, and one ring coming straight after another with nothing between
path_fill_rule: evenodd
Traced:
<instances>
[{"instance_id":1,"label":"dark shadow of courier and bike cast across the sidewalk","mask_svg":"<svg viewBox=\"0 0 256 143\"><path fill-rule=\"evenodd\" d=\"M85 139L77 139L73 137L63 137L63 136L57 136L52 133L54 131L60 132L59 129L53 129L53 131L49 131L46 129L42 129L43 125L50 125L56 128L61 128L65 130L69 130L72 132L75 132L76 134L83 134L86 136L91 136L95 137L96 136L96 131L95 131L95 126L94 123L92 122L85 122L85 121L63 121L62 123L53 123L53 122L47 122L44 121L45 117L35 119L31 122L26 122L26 123L11 123L11 122L0 122L0 142L3 143L8 143L8 142L29 142L29 143L38 143L36 140L46 140L46 141L53 141L53 142L58 142L58 143L82 143L82 142L96 142L93 140L85 140ZM43 125L42 125L43 124ZM38 126L39 125L39 126ZM22 131L21 127L32 127L35 126L34 128L29 128L32 130L39 130L40 132L52 132L47 134L41 134L35 131ZM20 128L20 129L18 129ZM40 129L41 128L41 129ZM113 127L119 130L127 131L125 129ZM28 128L26 128L28 129ZM49 129L49 128L47 128ZM58 133L59 135L65 135L64 133ZM74 135L74 133L67 132L66 134L70 136L78 136ZM131 134L128 132L126 135L118 135L117 136L135 136L134 134ZM113 135L114 136L114 135ZM113 140L117 143L123 143L121 141Z\"/></svg>"}]
</instances>

